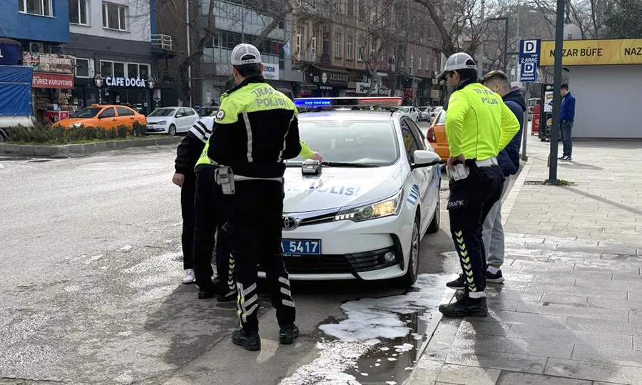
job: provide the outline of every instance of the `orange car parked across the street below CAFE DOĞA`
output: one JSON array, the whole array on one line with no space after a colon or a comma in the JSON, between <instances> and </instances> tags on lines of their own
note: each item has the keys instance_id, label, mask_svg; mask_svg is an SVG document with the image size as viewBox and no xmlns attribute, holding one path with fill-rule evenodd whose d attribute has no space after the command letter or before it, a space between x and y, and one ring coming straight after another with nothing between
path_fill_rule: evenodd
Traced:
<instances>
[{"instance_id":1,"label":"orange car parked across the street below CAFE DO\u011eA","mask_svg":"<svg viewBox=\"0 0 642 385\"><path fill-rule=\"evenodd\" d=\"M134 122L147 124L145 116L127 106L92 104L73 113L70 118L58 120L54 125L66 128L86 127L112 128L133 127Z\"/></svg>"}]
</instances>

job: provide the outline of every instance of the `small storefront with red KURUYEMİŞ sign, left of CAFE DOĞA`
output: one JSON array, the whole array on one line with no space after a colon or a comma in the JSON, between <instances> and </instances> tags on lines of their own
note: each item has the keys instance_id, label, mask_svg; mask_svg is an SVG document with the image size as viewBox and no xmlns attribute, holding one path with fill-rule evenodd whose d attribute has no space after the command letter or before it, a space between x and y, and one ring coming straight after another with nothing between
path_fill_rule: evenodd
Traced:
<instances>
[{"instance_id":1,"label":"small storefront with red KURUYEM\u0130\u015e sign, left of CAFE DO\u011eA","mask_svg":"<svg viewBox=\"0 0 642 385\"><path fill-rule=\"evenodd\" d=\"M73 56L24 52L24 66L34 68L34 115L40 123L55 123L60 111L73 111Z\"/></svg>"}]
</instances>

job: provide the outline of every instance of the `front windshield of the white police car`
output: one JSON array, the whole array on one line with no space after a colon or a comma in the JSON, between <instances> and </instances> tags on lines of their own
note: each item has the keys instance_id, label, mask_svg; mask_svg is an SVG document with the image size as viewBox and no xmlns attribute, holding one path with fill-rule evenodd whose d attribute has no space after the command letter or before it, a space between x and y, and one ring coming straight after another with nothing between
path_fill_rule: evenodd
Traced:
<instances>
[{"instance_id":1,"label":"front windshield of the white police car","mask_svg":"<svg viewBox=\"0 0 642 385\"><path fill-rule=\"evenodd\" d=\"M387 166L399 158L397 136L389 121L303 120L299 121L299 135L323 156L324 163ZM300 165L303 160L299 156L287 165Z\"/></svg>"}]
</instances>

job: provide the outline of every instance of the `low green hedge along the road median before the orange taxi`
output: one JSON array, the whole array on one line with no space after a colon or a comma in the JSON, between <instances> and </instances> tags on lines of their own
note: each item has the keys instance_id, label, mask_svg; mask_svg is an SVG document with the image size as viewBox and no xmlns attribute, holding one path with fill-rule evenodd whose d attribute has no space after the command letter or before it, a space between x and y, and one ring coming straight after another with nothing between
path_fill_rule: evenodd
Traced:
<instances>
[{"instance_id":1,"label":"low green hedge along the road median before the orange taxi","mask_svg":"<svg viewBox=\"0 0 642 385\"><path fill-rule=\"evenodd\" d=\"M68 144L98 142L104 140L125 139L129 135L143 136L147 128L135 122L133 128L120 125L113 128L85 127L84 125L63 128L60 126L35 125L26 128L21 125L5 129L9 143L35 143L35 144Z\"/></svg>"}]
</instances>

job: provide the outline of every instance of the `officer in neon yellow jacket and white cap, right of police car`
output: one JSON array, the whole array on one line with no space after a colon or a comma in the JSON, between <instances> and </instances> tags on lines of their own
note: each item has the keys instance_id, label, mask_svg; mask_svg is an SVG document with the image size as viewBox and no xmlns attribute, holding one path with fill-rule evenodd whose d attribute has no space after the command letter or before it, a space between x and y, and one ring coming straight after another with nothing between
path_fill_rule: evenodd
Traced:
<instances>
[{"instance_id":1,"label":"officer in neon yellow jacket and white cap, right of police car","mask_svg":"<svg viewBox=\"0 0 642 385\"><path fill-rule=\"evenodd\" d=\"M439 311L448 317L486 317L487 267L481 229L504 183L497 155L519 131L519 121L501 96L477 81L477 65L467 53L450 56L439 78L456 88L446 112L448 210L463 270L447 287L464 290L457 302L442 304Z\"/></svg>"}]
</instances>

